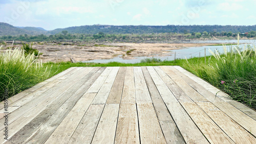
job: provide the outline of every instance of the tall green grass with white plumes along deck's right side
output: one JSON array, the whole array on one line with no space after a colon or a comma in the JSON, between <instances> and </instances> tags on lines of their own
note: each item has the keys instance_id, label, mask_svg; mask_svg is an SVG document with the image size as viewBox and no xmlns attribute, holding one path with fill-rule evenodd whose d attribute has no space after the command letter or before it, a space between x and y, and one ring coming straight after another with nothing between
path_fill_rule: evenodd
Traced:
<instances>
[{"instance_id":1,"label":"tall green grass with white plumes along deck's right side","mask_svg":"<svg viewBox=\"0 0 256 144\"><path fill-rule=\"evenodd\" d=\"M238 43L239 45L239 43ZM232 46L224 54L211 52L207 62L189 59L182 67L228 93L233 100L256 108L256 49L255 46ZM242 51L241 51L242 49Z\"/></svg>"}]
</instances>

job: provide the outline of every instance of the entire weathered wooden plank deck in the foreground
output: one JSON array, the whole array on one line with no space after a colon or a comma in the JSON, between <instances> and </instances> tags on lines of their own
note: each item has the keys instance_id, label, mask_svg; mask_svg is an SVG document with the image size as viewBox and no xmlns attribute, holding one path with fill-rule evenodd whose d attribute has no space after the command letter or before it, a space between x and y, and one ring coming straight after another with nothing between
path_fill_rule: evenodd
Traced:
<instances>
[{"instance_id":1,"label":"entire weathered wooden plank deck in the foreground","mask_svg":"<svg viewBox=\"0 0 256 144\"><path fill-rule=\"evenodd\" d=\"M72 67L0 103L0 142L256 143L256 112L218 91L179 66Z\"/></svg>"}]
</instances>

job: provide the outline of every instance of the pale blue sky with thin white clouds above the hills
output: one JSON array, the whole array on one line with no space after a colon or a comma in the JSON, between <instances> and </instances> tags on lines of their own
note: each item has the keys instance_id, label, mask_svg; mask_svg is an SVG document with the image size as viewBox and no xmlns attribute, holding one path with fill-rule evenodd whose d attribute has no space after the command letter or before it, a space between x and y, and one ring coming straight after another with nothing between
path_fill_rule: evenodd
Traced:
<instances>
[{"instance_id":1,"label":"pale blue sky with thin white clouds above the hills","mask_svg":"<svg viewBox=\"0 0 256 144\"><path fill-rule=\"evenodd\" d=\"M84 25L256 25L255 0L0 0L0 22L46 30Z\"/></svg>"}]
</instances>

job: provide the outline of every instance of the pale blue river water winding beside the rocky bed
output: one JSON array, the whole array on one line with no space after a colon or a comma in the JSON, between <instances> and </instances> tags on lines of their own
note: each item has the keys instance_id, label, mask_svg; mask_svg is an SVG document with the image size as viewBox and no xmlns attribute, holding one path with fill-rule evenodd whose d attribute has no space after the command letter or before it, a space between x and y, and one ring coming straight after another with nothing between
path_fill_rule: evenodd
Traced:
<instances>
[{"instance_id":1,"label":"pale blue river water winding beside the rocky bed","mask_svg":"<svg viewBox=\"0 0 256 144\"><path fill-rule=\"evenodd\" d=\"M234 45L237 45L237 40L201 40L201 41L182 41L182 43L234 43ZM239 41L240 47L244 47L245 44L254 44L256 43L256 40L240 40ZM231 45L227 45L227 50L230 50ZM193 58L193 57L204 57L210 56L210 52L218 51L219 53L223 53L223 46L222 45L217 45L217 46L198 46L198 47L185 47L183 49L179 50L170 50L169 54L166 54L166 56L159 57L159 56L154 56L154 58L161 59L162 61L164 60L174 60L175 53L176 53L176 59L185 59L185 58ZM142 59L145 58L152 58L151 57L134 57L135 59L131 60L124 60L120 56L117 56L112 59L99 59L99 60L90 60L90 61L83 61L83 62L93 62L93 63L108 63L108 62L121 62L121 63L139 63Z\"/></svg>"}]
</instances>

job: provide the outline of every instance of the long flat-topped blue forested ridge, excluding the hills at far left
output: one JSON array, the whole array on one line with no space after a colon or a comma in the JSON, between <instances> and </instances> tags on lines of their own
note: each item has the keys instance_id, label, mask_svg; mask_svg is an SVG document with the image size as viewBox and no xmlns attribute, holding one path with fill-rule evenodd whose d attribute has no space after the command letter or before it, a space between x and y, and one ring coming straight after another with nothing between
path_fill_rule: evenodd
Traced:
<instances>
[{"instance_id":1,"label":"long flat-topped blue forested ridge, excluding the hills at far left","mask_svg":"<svg viewBox=\"0 0 256 144\"><path fill-rule=\"evenodd\" d=\"M232 33L246 33L256 31L254 26L219 26L219 25L206 25L206 26L109 26L109 25L93 25L93 26L80 26L69 27L65 29L55 29L48 31L50 34L57 34L61 31L68 31L71 34L97 34L99 32L108 34L151 34L151 33L193 33L193 32L232 32Z\"/></svg>"}]
</instances>

